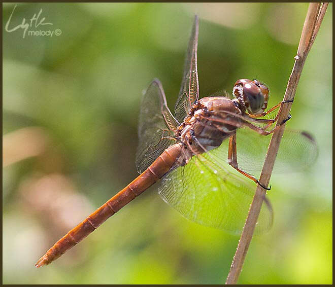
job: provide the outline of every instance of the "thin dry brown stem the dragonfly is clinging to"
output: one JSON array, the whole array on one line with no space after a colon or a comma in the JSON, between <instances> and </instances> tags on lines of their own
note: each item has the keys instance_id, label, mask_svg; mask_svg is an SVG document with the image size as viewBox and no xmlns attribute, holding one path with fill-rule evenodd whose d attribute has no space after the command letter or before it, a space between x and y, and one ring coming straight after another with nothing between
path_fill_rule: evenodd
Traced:
<instances>
[{"instance_id":1,"label":"thin dry brown stem the dragonfly is clinging to","mask_svg":"<svg viewBox=\"0 0 335 287\"><path fill-rule=\"evenodd\" d=\"M309 5L303 31L301 32L297 55L294 57L295 61L292 73L288 80L283 101L290 101L294 98L306 57L314 43L316 34L321 25L327 6L328 3L311 3ZM278 117L277 125L278 123L281 123L284 119L287 118L291 109L291 105L292 102L289 102L282 106L281 110L279 111L280 114ZM259 182L263 186L269 185L272 169L274 167L276 156L279 150L280 141L284 133L284 128L285 124L278 128L278 130L274 132L271 138L271 142L266 153L263 169L259 178ZM248 217L244 225L235 256L233 257L233 261L230 266L230 271L228 273L226 284L237 283L258 220L259 212L265 198L265 194L266 190L258 185L249 209Z\"/></svg>"}]
</instances>

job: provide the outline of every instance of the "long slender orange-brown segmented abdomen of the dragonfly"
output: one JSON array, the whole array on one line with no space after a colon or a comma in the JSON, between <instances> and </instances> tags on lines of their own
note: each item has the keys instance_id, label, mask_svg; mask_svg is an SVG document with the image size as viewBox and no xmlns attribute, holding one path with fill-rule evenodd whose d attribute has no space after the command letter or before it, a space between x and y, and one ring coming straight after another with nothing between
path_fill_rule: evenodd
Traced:
<instances>
[{"instance_id":1,"label":"long slender orange-brown segmented abdomen of the dragonfly","mask_svg":"<svg viewBox=\"0 0 335 287\"><path fill-rule=\"evenodd\" d=\"M36 267L48 265L76 245L87 235L104 223L115 212L147 190L170 170L181 153L181 145L177 143L166 149L143 173L124 189L114 195L104 205L96 209L82 223L60 238L35 264Z\"/></svg>"}]
</instances>

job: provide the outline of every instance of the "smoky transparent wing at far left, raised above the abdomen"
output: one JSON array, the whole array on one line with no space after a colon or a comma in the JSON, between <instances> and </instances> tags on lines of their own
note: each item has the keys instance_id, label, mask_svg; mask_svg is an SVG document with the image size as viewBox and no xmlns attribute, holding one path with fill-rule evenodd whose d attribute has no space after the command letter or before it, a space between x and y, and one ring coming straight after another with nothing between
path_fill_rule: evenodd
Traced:
<instances>
[{"instance_id":1,"label":"smoky transparent wing at far left, raised above the abdomen","mask_svg":"<svg viewBox=\"0 0 335 287\"><path fill-rule=\"evenodd\" d=\"M155 79L145 92L139 119L139 146L136 167L142 173L172 143L173 130L178 126L166 104L159 80Z\"/></svg>"}]
</instances>

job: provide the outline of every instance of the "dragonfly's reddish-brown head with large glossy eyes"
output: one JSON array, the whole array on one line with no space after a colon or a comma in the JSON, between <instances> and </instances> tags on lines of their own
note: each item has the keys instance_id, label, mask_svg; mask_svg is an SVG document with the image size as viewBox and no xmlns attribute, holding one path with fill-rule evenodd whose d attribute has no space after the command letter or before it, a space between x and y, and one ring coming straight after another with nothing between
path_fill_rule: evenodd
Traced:
<instances>
[{"instance_id":1,"label":"dragonfly's reddish-brown head with large glossy eyes","mask_svg":"<svg viewBox=\"0 0 335 287\"><path fill-rule=\"evenodd\" d=\"M232 93L249 114L258 115L265 111L269 88L258 80L240 79L235 83Z\"/></svg>"}]
</instances>

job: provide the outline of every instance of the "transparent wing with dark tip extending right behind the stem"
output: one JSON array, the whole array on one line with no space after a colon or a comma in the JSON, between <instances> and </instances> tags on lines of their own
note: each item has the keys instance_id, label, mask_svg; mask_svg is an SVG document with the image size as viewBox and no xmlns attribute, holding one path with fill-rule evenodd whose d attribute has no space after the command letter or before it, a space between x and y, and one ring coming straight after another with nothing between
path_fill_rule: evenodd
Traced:
<instances>
[{"instance_id":1,"label":"transparent wing with dark tip extending right behind the stem","mask_svg":"<svg viewBox=\"0 0 335 287\"><path fill-rule=\"evenodd\" d=\"M240 128L236 134L239 167L259 177L271 135L260 135L248 128ZM220 149L222 149L220 156L227 158L227 140L222 143ZM302 171L314 163L317 155L317 145L311 134L301 130L285 128L273 172Z\"/></svg>"}]
</instances>

